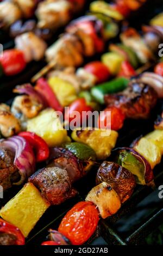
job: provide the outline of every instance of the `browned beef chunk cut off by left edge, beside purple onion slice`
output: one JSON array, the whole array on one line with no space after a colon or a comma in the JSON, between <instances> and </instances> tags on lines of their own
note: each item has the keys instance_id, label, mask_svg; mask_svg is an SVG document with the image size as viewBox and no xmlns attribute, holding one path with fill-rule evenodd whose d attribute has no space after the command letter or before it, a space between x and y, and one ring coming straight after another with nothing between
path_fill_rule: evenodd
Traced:
<instances>
[{"instance_id":1,"label":"browned beef chunk cut off by left edge, beside purple onion slice","mask_svg":"<svg viewBox=\"0 0 163 256\"><path fill-rule=\"evenodd\" d=\"M14 153L6 148L0 148L0 185L7 190L20 178L18 169L14 165Z\"/></svg>"}]
</instances>

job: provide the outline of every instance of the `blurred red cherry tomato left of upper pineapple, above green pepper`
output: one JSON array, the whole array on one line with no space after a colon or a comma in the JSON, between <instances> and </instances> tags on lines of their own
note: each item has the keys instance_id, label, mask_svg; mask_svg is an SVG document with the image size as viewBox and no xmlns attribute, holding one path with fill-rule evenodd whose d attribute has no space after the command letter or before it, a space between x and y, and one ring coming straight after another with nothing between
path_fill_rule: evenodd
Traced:
<instances>
[{"instance_id":1,"label":"blurred red cherry tomato left of upper pineapple, above green pepper","mask_svg":"<svg viewBox=\"0 0 163 256\"><path fill-rule=\"evenodd\" d=\"M84 69L97 77L97 83L103 83L110 77L109 69L102 62L90 62Z\"/></svg>"}]
</instances>

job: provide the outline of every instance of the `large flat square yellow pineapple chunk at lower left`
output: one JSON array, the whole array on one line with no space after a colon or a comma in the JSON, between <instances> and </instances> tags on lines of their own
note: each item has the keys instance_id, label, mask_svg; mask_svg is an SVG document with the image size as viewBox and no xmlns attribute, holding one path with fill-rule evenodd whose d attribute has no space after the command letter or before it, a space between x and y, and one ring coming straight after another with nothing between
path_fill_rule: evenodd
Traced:
<instances>
[{"instance_id":1,"label":"large flat square yellow pineapple chunk at lower left","mask_svg":"<svg viewBox=\"0 0 163 256\"><path fill-rule=\"evenodd\" d=\"M0 211L0 216L15 225L27 237L50 204L41 197L39 190L27 183Z\"/></svg>"}]
</instances>

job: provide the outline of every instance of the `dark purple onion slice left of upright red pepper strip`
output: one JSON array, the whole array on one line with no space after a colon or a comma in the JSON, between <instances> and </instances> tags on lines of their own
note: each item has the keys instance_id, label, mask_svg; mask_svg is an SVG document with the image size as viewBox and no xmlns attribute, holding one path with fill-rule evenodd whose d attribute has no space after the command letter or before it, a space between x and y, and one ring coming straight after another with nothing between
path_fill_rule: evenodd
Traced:
<instances>
[{"instance_id":1,"label":"dark purple onion slice left of upright red pepper strip","mask_svg":"<svg viewBox=\"0 0 163 256\"><path fill-rule=\"evenodd\" d=\"M31 84L29 84L29 83L23 84L22 86L17 86L14 89L14 92L30 95L33 97L33 99L37 100L44 107L48 107L48 103L47 103L45 97L43 97L43 95L41 95L39 92L37 92L37 90L35 90L35 88L33 86L31 86Z\"/></svg>"}]
</instances>

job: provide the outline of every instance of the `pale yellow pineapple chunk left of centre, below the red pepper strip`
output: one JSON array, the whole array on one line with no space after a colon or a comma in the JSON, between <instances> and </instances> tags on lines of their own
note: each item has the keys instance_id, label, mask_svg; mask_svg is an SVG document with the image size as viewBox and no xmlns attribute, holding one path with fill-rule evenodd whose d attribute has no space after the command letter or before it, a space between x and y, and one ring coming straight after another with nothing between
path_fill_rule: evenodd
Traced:
<instances>
[{"instance_id":1,"label":"pale yellow pineapple chunk left of centre, below the red pepper strip","mask_svg":"<svg viewBox=\"0 0 163 256\"><path fill-rule=\"evenodd\" d=\"M35 132L43 138L49 147L59 146L70 141L67 131L64 130L57 112L47 108L39 113L37 117L28 120L27 131Z\"/></svg>"}]
</instances>

